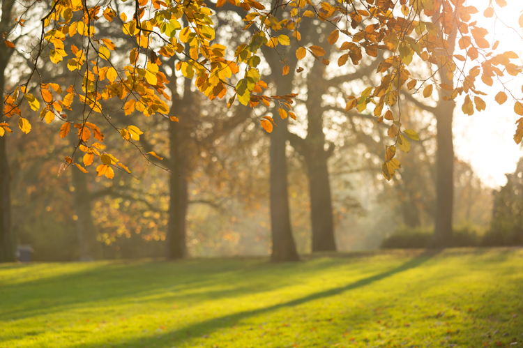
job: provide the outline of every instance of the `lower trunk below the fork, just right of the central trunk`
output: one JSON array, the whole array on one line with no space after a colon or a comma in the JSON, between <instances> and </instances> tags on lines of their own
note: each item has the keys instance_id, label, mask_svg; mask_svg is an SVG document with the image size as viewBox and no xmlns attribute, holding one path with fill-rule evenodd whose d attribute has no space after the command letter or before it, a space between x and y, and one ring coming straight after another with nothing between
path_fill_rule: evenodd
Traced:
<instances>
[{"instance_id":1,"label":"lower trunk below the fork, just right of the central trunk","mask_svg":"<svg viewBox=\"0 0 523 348\"><path fill-rule=\"evenodd\" d=\"M331 183L328 179L328 156L321 149L319 156L307 161L312 222L312 252L336 251L334 239Z\"/></svg>"}]
</instances>

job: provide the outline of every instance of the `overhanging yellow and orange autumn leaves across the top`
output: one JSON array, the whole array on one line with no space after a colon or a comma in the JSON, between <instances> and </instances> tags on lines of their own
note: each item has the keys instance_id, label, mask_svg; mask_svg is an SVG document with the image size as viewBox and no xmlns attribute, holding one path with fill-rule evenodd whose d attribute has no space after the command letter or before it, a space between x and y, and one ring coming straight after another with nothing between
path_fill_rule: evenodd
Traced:
<instances>
[{"instance_id":1,"label":"overhanging yellow and orange autumn leaves across the top","mask_svg":"<svg viewBox=\"0 0 523 348\"><path fill-rule=\"evenodd\" d=\"M216 8L225 6L226 2L218 0ZM406 89L416 93L425 86L425 98L432 96L438 89L446 93L444 100L453 101L458 96L464 96L462 110L471 115L474 107L478 111L486 107L481 98L486 93L476 86L476 77L481 75L483 84L492 86L494 79L499 80L505 73L515 76L522 70L511 61L518 58L517 54L498 54L498 43L491 47L485 40L487 29L478 27L476 21L471 22L472 15L478 13L478 9L465 6L465 0L338 0L334 4L321 2L317 5L310 0L291 0L285 3L275 1L271 8L254 0L228 0L228 3L245 10L243 21L246 24L243 30L251 33L248 43L242 43L236 48L213 43L213 11L204 1L135 0L133 6L128 7L134 10L128 18L126 13L119 13L112 1L89 7L87 1L56 0L42 19L41 36L33 51L34 68L29 79L6 95L3 114L8 118L19 116L20 128L24 133L29 133L31 124L21 117L19 105L23 98L20 98L20 94L24 94L35 111L40 109L39 100L42 100L44 105L40 119L45 119L47 123L55 119L64 121L61 137L67 135L73 124L78 132L77 149L86 153L83 164L91 165L94 156L97 156L101 162L97 167L98 176L112 178L113 167L127 172L129 169L110 153L100 152L104 149L102 144L89 145L91 135L100 142L103 142L104 135L96 121L88 120L101 114L102 120L111 123L103 103L116 100L121 103L125 114L131 114L136 109L144 116L160 114L171 121L178 121L176 117L169 116L169 107L165 101L170 100L166 93L169 81L159 71L158 67L162 65L160 56L165 59L178 56L176 70L194 80L197 89L210 100L223 98L227 91L231 91L229 107L236 98L241 104L251 107L256 107L259 102L267 106L271 102L279 103L278 111L282 119L287 115L296 119L291 107L296 94L267 96L264 93L268 86L260 79L259 52L262 45L278 50L278 45L288 46L291 40L296 40L299 46L296 50L298 61L310 54L314 59L329 65L331 62L324 58L327 56L324 48L301 45L301 21L303 17L314 17L333 26L327 38L330 45L337 43L340 38L347 38L340 46L344 52L338 59L340 67L347 64L349 59L357 65L363 54L377 57L379 51L389 52L377 70L384 75L381 84L368 87L358 96L349 96L346 111L356 107L358 112L365 112L372 104L377 123L391 122L388 135L394 144L386 146L382 166L385 178L390 180L395 175L395 169L400 168L400 162L395 158L397 148L408 152L409 139L418 139L414 130L403 129L401 112L398 111L397 115L393 113L393 107L400 103L402 91ZM505 5L506 1L496 0L496 6ZM495 15L492 1L483 15ZM22 17L19 22L23 20ZM135 47L128 54L128 65L120 67L116 64L112 59L116 45L110 38L96 35L97 27L103 21L121 27L123 33L132 39ZM73 44L66 47L68 39L75 35L81 36L81 47ZM463 54L453 55L456 40ZM9 40L5 40L5 44L10 50L15 49ZM28 93L32 77L40 76L38 59L43 58L46 47L50 48L49 59L53 63L64 61L68 70L82 77L81 91L69 86L67 94L60 100L61 86L43 83L40 77L40 96ZM430 67L430 75L426 80L411 77L408 67L415 56ZM281 60L282 75L287 75L291 67L287 59ZM462 66L458 64L460 62ZM477 65L467 73L464 68L469 62ZM301 70L303 68L298 67L296 71L299 73ZM441 81L437 81L437 73L442 77ZM498 103L505 103L508 98L506 92L499 91L496 97ZM508 93L515 100L515 113L523 116L523 103L510 91ZM65 112L71 109L75 100L84 106L83 119L78 122L66 121ZM275 124L273 119L265 116L260 121L261 126L270 133ZM523 117L517 124L514 139L519 144L523 139ZM136 126L121 128L111 125L128 142L139 140L142 134ZM8 123L0 123L0 133L3 135L5 131L11 131ZM156 153L149 154L156 156ZM64 165L75 165L86 171L71 158L66 158Z\"/></svg>"}]
</instances>

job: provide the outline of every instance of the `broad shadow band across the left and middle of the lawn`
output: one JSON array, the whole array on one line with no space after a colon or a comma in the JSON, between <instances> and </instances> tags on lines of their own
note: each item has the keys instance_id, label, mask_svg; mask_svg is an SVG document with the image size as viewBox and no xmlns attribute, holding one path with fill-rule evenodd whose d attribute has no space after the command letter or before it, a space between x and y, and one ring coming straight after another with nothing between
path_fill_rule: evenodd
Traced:
<instances>
[{"instance_id":1,"label":"broad shadow band across the left and middle of the lawn","mask_svg":"<svg viewBox=\"0 0 523 348\"><path fill-rule=\"evenodd\" d=\"M81 310L110 301L125 305L158 301L160 296L161 301L181 299L190 304L267 292L295 285L296 279L289 277L289 271L296 275L299 269L313 277L339 265L335 259L298 264L270 264L265 259L95 264L75 273L0 285L0 322ZM256 273L257 278L253 279L252 273ZM195 289L203 291L195 292Z\"/></svg>"}]
</instances>

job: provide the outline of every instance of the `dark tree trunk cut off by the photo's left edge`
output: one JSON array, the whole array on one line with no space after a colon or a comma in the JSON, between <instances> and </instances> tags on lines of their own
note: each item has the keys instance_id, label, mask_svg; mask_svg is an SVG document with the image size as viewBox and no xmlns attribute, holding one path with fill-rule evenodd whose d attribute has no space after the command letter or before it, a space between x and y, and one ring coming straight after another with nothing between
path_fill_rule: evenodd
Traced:
<instances>
[{"instance_id":1,"label":"dark tree trunk cut off by the photo's left edge","mask_svg":"<svg viewBox=\"0 0 523 348\"><path fill-rule=\"evenodd\" d=\"M0 66L0 100L3 100L6 69ZM0 262L16 261L16 240L11 226L10 172L7 158L7 134L0 137Z\"/></svg>"}]
</instances>

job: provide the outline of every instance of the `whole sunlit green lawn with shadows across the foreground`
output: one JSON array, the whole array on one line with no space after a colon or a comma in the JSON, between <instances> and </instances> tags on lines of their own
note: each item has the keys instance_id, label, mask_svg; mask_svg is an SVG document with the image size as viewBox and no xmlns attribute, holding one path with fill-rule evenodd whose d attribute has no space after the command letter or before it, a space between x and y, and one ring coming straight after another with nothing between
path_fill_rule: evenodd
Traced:
<instances>
[{"instance_id":1,"label":"whole sunlit green lawn with shadows across the foreground","mask_svg":"<svg viewBox=\"0 0 523 348\"><path fill-rule=\"evenodd\" d=\"M522 318L518 249L0 266L1 348L523 347Z\"/></svg>"}]
</instances>

